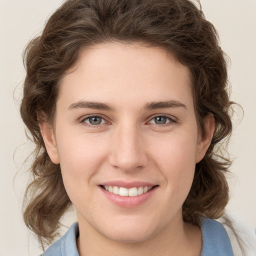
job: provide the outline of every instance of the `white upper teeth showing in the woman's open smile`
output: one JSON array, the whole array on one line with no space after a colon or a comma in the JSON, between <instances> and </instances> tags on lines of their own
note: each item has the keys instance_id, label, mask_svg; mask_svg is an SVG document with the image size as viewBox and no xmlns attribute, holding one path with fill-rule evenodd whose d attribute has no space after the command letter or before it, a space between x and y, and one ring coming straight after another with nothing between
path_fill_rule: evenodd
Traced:
<instances>
[{"instance_id":1,"label":"white upper teeth showing in the woman's open smile","mask_svg":"<svg viewBox=\"0 0 256 256\"><path fill-rule=\"evenodd\" d=\"M155 186L138 186L126 188L122 186L101 185L106 191L120 196L137 196L151 190Z\"/></svg>"}]
</instances>

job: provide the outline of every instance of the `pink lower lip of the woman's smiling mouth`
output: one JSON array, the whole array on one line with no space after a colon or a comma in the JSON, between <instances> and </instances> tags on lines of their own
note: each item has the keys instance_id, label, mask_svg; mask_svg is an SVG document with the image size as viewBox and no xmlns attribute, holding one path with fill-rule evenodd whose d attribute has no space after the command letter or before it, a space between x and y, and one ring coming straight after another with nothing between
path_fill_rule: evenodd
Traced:
<instances>
[{"instance_id":1,"label":"pink lower lip of the woman's smiling mouth","mask_svg":"<svg viewBox=\"0 0 256 256\"><path fill-rule=\"evenodd\" d=\"M104 195L114 204L121 207L131 208L131 207L136 207L144 203L146 200L148 200L157 189L157 186L154 186L152 189L150 189L146 193L139 194L136 196L121 196L118 194L110 193L101 186L100 188L104 193Z\"/></svg>"}]
</instances>

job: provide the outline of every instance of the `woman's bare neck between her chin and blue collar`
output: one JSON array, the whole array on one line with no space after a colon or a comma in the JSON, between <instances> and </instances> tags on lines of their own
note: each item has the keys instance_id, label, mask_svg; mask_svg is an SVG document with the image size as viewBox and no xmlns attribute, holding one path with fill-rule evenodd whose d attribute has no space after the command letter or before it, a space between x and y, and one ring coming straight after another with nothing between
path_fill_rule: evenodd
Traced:
<instances>
[{"instance_id":1,"label":"woman's bare neck between her chin and blue collar","mask_svg":"<svg viewBox=\"0 0 256 256\"><path fill-rule=\"evenodd\" d=\"M81 219L80 219L81 220ZM79 221L77 248L80 256L199 256L202 247L198 227L173 221L159 233L142 241L116 241L100 234L88 222Z\"/></svg>"}]
</instances>

